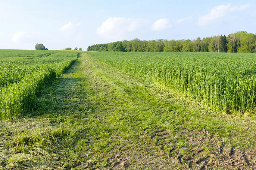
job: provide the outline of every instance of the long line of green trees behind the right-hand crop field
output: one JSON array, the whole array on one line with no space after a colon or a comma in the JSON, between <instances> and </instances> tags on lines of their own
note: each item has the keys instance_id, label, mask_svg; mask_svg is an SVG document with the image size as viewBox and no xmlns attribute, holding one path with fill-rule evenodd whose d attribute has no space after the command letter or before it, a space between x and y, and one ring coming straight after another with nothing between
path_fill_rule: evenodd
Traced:
<instances>
[{"instance_id":1,"label":"long line of green trees behind the right-hand crop field","mask_svg":"<svg viewBox=\"0 0 256 170\"><path fill-rule=\"evenodd\" d=\"M206 37L196 40L139 40L117 41L89 46L87 51L124 52L256 52L256 35L246 31Z\"/></svg>"}]
</instances>

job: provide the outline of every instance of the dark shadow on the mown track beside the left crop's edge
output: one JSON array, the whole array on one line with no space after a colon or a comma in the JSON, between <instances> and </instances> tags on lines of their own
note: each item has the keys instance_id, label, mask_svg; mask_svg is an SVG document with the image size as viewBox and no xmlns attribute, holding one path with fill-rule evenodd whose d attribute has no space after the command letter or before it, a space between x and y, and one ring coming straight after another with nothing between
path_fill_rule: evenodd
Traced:
<instances>
[{"instance_id":1,"label":"dark shadow on the mown track beside the left crop's edge","mask_svg":"<svg viewBox=\"0 0 256 170\"><path fill-rule=\"evenodd\" d=\"M84 115L94 107L86 100L92 91L86 91L88 79L77 72L79 61L75 61L68 70L48 87L42 89L33 109L23 118L56 117L60 115Z\"/></svg>"}]
</instances>

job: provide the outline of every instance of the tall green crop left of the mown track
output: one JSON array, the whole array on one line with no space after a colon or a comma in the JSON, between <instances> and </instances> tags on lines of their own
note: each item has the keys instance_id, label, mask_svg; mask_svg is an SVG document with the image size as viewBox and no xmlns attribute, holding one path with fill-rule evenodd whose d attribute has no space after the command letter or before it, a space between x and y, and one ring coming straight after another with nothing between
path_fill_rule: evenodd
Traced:
<instances>
[{"instance_id":1,"label":"tall green crop left of the mown track","mask_svg":"<svg viewBox=\"0 0 256 170\"><path fill-rule=\"evenodd\" d=\"M20 117L32 109L41 89L61 76L77 55L73 51L0 50L0 118Z\"/></svg>"}]
</instances>

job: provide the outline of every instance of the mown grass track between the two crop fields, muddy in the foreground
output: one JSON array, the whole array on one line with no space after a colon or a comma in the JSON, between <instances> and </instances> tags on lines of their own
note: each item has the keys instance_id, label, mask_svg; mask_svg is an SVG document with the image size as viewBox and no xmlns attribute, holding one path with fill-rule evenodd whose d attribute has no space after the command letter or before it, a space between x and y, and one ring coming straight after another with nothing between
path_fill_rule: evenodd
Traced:
<instances>
[{"instance_id":1,"label":"mown grass track between the two crop fields, muddy in the foreground","mask_svg":"<svg viewBox=\"0 0 256 170\"><path fill-rule=\"evenodd\" d=\"M255 169L254 129L250 120L192 106L81 53L42 92L36 111L1 122L0 169ZM45 147L51 159L15 161L19 145L37 146L18 143L20 136L48 139L56 131Z\"/></svg>"}]
</instances>

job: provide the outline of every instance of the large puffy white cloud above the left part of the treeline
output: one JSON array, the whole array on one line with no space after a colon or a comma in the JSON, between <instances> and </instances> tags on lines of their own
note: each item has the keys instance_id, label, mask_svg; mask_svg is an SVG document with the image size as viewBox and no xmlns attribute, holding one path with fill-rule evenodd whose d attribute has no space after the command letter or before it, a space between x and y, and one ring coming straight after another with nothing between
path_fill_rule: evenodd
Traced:
<instances>
[{"instance_id":1,"label":"large puffy white cloud above the left part of the treeline","mask_svg":"<svg viewBox=\"0 0 256 170\"><path fill-rule=\"evenodd\" d=\"M97 28L97 33L111 39L123 39L126 34L141 28L145 23L144 19L108 18Z\"/></svg>"}]
</instances>

